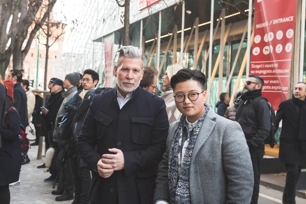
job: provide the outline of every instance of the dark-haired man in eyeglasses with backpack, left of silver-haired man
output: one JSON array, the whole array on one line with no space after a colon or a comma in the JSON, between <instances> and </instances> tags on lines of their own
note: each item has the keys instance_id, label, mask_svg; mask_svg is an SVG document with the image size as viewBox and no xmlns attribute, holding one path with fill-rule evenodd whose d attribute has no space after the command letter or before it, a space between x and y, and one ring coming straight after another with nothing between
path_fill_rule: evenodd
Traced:
<instances>
[{"instance_id":1,"label":"dark-haired man in eyeglasses with backpack, left of silver-haired man","mask_svg":"<svg viewBox=\"0 0 306 204\"><path fill-rule=\"evenodd\" d=\"M86 93L89 92L89 90L94 89L99 81L99 74L92 70L87 69L84 71L84 74L82 76L82 85L83 90L79 90L68 102L65 104L65 109L68 112L67 117L69 120L73 120L75 116L78 114L78 112L82 112L83 120L85 119L85 115L87 113L87 110L89 109L89 104L87 107L82 106L82 101L84 99L84 96ZM86 97L85 100L92 100L92 97L88 98ZM82 103L82 104L80 104ZM75 108L71 107L75 105ZM69 109L71 107L71 109ZM79 107L82 107L81 109ZM77 110L77 111L75 111ZM83 112L85 110L85 113ZM71 112L70 112L71 111ZM79 114L78 114L79 115ZM80 116L80 115L79 115ZM70 117L70 118L69 118ZM67 119L67 120L68 120ZM75 118L75 122L80 121L81 117ZM83 120L81 120L81 124L83 123ZM67 121L68 122L68 121ZM72 127L73 127L73 122ZM69 125L69 123L67 123ZM71 128L66 126L66 128ZM73 131L74 130L74 131ZM70 138L74 135L79 135L78 131L75 131L75 128L72 128L71 133L73 135L70 135ZM67 132L66 134L70 134ZM84 163L83 160L80 159L79 152L77 150L77 141L78 140L71 140L70 147L69 147L69 156L68 159L70 160L71 170L73 174L73 184L74 184L74 200L73 204L78 203L89 203L89 190L91 186L91 175L90 171L86 168L87 165Z\"/></svg>"}]
</instances>

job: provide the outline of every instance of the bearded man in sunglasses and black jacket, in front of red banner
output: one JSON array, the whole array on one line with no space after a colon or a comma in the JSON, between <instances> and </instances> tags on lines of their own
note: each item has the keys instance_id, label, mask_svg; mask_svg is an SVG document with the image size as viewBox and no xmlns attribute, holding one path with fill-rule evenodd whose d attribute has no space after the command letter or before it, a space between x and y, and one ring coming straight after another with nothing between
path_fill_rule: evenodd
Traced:
<instances>
[{"instance_id":1,"label":"bearded man in sunglasses and black jacket, in front of red banner","mask_svg":"<svg viewBox=\"0 0 306 204\"><path fill-rule=\"evenodd\" d=\"M265 140L271 131L271 109L262 97L263 78L250 74L244 83L238 104L236 121L241 125L253 165L254 189L251 204L258 203L261 162L265 154ZM258 100L259 99L259 100ZM258 100L257 107L253 102Z\"/></svg>"}]
</instances>

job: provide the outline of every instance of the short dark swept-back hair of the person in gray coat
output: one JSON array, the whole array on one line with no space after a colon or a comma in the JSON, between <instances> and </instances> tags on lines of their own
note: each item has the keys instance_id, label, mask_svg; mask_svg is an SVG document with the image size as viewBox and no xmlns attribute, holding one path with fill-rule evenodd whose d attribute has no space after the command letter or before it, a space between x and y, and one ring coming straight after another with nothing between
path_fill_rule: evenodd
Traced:
<instances>
[{"instance_id":1,"label":"short dark swept-back hair of the person in gray coat","mask_svg":"<svg viewBox=\"0 0 306 204\"><path fill-rule=\"evenodd\" d=\"M205 74L203 74L199 70L193 70L188 68L180 69L176 74L174 74L171 78L170 84L172 89L175 89L176 84L180 82L186 82L188 80L197 81L202 86L202 89L206 90Z\"/></svg>"}]
</instances>

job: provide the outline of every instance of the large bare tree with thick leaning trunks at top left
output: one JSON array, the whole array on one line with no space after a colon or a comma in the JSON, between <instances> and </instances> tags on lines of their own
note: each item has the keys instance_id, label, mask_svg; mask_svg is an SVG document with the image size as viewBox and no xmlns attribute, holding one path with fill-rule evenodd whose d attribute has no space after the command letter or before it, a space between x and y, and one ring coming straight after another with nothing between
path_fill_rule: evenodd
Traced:
<instances>
[{"instance_id":1,"label":"large bare tree with thick leaning trunks at top left","mask_svg":"<svg viewBox=\"0 0 306 204\"><path fill-rule=\"evenodd\" d=\"M46 12L43 12L43 0L0 0L0 74L5 71L13 55L13 68L22 69L33 39L41 25L47 19L57 0L50 0ZM34 22L34 25L33 25ZM29 28L33 29L29 34ZM29 34L29 35L28 35ZM24 48L22 45L28 39Z\"/></svg>"}]
</instances>

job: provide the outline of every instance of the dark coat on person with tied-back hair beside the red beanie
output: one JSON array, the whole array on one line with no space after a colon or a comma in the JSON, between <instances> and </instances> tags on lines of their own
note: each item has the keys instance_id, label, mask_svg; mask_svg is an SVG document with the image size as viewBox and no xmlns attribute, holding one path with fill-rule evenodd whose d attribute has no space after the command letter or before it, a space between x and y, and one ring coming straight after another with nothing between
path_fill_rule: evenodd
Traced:
<instances>
[{"instance_id":1,"label":"dark coat on person with tied-back hair beside the red beanie","mask_svg":"<svg viewBox=\"0 0 306 204\"><path fill-rule=\"evenodd\" d=\"M28 105L27 94L20 83L14 84L14 108L18 111L20 116L20 123L25 127L28 125Z\"/></svg>"}]
</instances>

